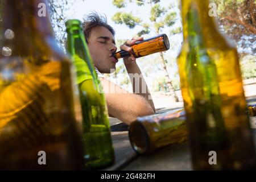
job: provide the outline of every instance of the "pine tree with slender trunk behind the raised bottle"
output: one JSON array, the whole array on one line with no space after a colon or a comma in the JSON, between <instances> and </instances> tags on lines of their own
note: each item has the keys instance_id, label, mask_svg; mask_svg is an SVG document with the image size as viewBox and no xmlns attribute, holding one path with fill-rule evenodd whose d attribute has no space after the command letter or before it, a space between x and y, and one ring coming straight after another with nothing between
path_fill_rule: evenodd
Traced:
<instances>
[{"instance_id":1,"label":"pine tree with slender trunk behind the raised bottle","mask_svg":"<svg viewBox=\"0 0 256 182\"><path fill-rule=\"evenodd\" d=\"M119 11L114 14L112 20L117 24L125 24L129 28L134 28L135 26L141 26L142 30L138 32L138 36L150 34L154 32L155 35L159 35L160 31L164 27L172 27L176 20L177 14L175 11L172 11L173 6L170 5L168 7L167 13L166 8L160 6L160 0L129 0L130 2L136 3L138 6L150 6L150 23L145 22L145 20L141 20L141 18L134 16L133 13L125 13L123 11ZM127 6L127 2L125 0L113 0L113 5L116 6L118 9ZM164 18L163 18L164 16ZM173 34L177 34L181 31L177 29L173 31ZM164 71L164 77L166 78L166 84L168 88L168 92L171 93L172 98L174 101L179 101L176 93L174 91L174 86L172 85L172 81L170 75L167 71L167 60L164 59L164 55L162 52L159 53L160 55L160 63L162 65L162 70Z\"/></svg>"}]
</instances>

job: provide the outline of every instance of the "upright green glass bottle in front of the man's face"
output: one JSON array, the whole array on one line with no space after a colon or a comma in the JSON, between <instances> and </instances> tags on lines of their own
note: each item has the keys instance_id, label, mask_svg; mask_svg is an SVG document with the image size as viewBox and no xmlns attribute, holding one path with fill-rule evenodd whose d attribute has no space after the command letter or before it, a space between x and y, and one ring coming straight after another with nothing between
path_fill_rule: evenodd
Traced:
<instances>
[{"instance_id":1,"label":"upright green glass bottle in front of the man's face","mask_svg":"<svg viewBox=\"0 0 256 182\"><path fill-rule=\"evenodd\" d=\"M67 49L73 57L82 106L85 166L88 169L107 166L114 162L114 150L105 95L93 67L80 20L68 20L65 24Z\"/></svg>"}]
</instances>

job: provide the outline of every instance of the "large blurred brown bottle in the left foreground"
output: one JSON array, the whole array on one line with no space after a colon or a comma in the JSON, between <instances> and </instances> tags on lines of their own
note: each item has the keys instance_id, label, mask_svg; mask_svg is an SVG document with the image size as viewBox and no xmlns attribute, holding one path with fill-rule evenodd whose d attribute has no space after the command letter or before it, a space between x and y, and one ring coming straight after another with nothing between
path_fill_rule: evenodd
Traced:
<instances>
[{"instance_id":1,"label":"large blurred brown bottle in the left foreground","mask_svg":"<svg viewBox=\"0 0 256 182\"><path fill-rule=\"evenodd\" d=\"M71 61L57 47L45 8L41 0L3 2L0 169L83 168Z\"/></svg>"}]
</instances>

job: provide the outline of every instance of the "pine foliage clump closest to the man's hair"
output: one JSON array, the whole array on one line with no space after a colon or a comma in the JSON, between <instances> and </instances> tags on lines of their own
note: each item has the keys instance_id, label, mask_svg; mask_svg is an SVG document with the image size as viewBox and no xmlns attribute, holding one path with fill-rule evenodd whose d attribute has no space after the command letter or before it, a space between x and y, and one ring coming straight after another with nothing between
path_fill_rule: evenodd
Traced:
<instances>
[{"instance_id":1,"label":"pine foliage clump closest to the man's hair","mask_svg":"<svg viewBox=\"0 0 256 182\"><path fill-rule=\"evenodd\" d=\"M132 13L123 13L118 12L115 13L112 17L113 22L117 24L126 24L129 28L134 28L136 26L136 23L141 23L141 19L133 16Z\"/></svg>"}]
</instances>

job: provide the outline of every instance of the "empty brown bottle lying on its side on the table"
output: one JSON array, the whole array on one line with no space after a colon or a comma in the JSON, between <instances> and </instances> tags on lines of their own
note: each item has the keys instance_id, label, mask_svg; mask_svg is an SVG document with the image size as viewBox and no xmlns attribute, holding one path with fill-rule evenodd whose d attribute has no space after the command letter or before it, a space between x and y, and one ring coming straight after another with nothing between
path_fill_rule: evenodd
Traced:
<instances>
[{"instance_id":1,"label":"empty brown bottle lying on its side on the table","mask_svg":"<svg viewBox=\"0 0 256 182\"><path fill-rule=\"evenodd\" d=\"M175 110L139 117L129 126L131 146L138 154L187 141L185 111Z\"/></svg>"}]
</instances>

